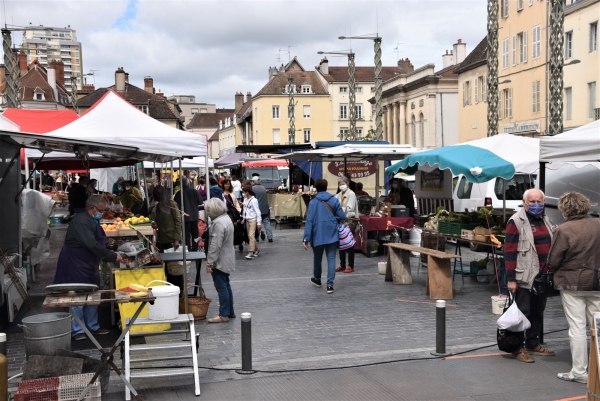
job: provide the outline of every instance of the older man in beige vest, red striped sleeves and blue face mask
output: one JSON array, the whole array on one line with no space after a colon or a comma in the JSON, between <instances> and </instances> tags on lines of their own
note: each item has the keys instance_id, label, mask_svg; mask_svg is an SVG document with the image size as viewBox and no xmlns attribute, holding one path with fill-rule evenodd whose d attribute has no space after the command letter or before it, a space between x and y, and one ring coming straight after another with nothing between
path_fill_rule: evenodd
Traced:
<instances>
[{"instance_id":1,"label":"older man in beige vest, red striped sleeves and blue face mask","mask_svg":"<svg viewBox=\"0 0 600 401\"><path fill-rule=\"evenodd\" d=\"M520 332L521 349L513 352L513 358L521 362L535 362L531 354L553 356L540 344L546 298L531 291L534 277L548 271L548 254L552 243L550 220L544 216L544 193L529 189L523 194L523 208L506 223L504 264L508 290L515 295L515 302L531 322L531 328Z\"/></svg>"}]
</instances>

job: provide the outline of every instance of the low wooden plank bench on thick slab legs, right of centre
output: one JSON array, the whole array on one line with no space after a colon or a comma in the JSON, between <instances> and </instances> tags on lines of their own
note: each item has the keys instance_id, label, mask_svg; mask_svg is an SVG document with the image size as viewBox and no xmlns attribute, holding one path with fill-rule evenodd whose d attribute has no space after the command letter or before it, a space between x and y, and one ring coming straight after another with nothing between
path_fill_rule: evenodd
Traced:
<instances>
[{"instance_id":1,"label":"low wooden plank bench on thick slab legs, right of centre","mask_svg":"<svg viewBox=\"0 0 600 401\"><path fill-rule=\"evenodd\" d=\"M412 284L410 252L427 255L426 294L430 299L452 299L452 269L450 260L460 258L435 249L422 248L402 243L385 244L389 247L385 281L394 284Z\"/></svg>"}]
</instances>

